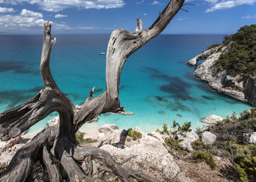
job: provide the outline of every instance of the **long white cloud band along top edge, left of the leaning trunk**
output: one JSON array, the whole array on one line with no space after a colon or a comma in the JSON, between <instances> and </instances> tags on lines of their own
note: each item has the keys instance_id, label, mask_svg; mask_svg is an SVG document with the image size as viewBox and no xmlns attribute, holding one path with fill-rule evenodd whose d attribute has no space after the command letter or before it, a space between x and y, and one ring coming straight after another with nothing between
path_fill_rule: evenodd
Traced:
<instances>
[{"instance_id":1,"label":"long white cloud band along top edge, left of the leaning trunk","mask_svg":"<svg viewBox=\"0 0 256 182\"><path fill-rule=\"evenodd\" d=\"M5 0L5 3L13 5L28 2L39 5L40 9L50 12L58 12L66 8L78 9L109 9L123 7L123 0Z\"/></svg>"}]
</instances>

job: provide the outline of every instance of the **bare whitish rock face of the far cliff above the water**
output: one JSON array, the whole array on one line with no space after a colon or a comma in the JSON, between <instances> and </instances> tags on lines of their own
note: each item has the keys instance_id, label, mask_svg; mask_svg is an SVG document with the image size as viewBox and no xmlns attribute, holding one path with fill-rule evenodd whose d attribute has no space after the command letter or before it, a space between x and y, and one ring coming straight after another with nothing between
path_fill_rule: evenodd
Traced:
<instances>
[{"instance_id":1,"label":"bare whitish rock face of the far cliff above the water","mask_svg":"<svg viewBox=\"0 0 256 182\"><path fill-rule=\"evenodd\" d=\"M218 90L225 95L234 97L235 99L256 105L256 79L251 76L237 75L232 77L227 75L227 70L219 70L215 65L220 54L228 51L228 47L224 46L221 51L213 52L208 55L204 63L199 65L195 70L195 75L208 82L210 87ZM200 54L199 54L200 55ZM195 57L196 58L196 57ZM202 57L203 59L203 57Z\"/></svg>"}]
</instances>

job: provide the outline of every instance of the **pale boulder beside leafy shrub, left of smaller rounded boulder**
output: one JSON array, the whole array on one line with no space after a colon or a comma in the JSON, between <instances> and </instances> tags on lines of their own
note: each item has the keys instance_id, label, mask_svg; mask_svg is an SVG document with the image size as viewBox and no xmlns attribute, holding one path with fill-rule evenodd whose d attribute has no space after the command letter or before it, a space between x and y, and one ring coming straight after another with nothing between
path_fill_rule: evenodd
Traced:
<instances>
[{"instance_id":1,"label":"pale boulder beside leafy shrub, left of smaller rounded boulder","mask_svg":"<svg viewBox=\"0 0 256 182\"><path fill-rule=\"evenodd\" d=\"M187 135L187 137L178 135L179 139L182 139L182 141L180 142L180 148L182 148L183 150L187 150L189 152L193 151L192 145L191 143L197 139L199 139L199 136L195 133L194 130L190 131L190 132L185 132L184 134Z\"/></svg>"}]
</instances>

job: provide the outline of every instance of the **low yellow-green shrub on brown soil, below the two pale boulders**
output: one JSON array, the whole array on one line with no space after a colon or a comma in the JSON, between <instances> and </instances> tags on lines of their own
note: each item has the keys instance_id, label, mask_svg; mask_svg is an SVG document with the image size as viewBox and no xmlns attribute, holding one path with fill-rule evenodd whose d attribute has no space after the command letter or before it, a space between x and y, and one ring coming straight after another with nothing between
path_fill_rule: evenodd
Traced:
<instances>
[{"instance_id":1,"label":"low yellow-green shrub on brown soil, below the two pale boulders","mask_svg":"<svg viewBox=\"0 0 256 182\"><path fill-rule=\"evenodd\" d=\"M212 169L216 169L216 163L213 159L213 155L211 155L208 151L194 151L193 152L193 157L194 157L194 160L192 160L192 162L206 162L209 164L209 166L212 168Z\"/></svg>"}]
</instances>

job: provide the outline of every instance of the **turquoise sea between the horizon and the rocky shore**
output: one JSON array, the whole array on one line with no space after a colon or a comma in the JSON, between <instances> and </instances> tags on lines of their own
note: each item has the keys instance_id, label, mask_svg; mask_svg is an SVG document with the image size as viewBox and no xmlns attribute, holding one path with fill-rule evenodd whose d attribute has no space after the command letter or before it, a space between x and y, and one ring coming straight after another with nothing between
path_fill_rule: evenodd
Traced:
<instances>
[{"instance_id":1,"label":"turquoise sea between the horizon and the rocky shore","mask_svg":"<svg viewBox=\"0 0 256 182\"><path fill-rule=\"evenodd\" d=\"M95 87L105 91L106 55L110 35L55 35L50 69L55 82L74 104L81 104ZM195 66L185 62L207 46L221 43L223 35L159 35L133 53L121 74L120 100L132 116L102 114L82 126L117 124L119 129L155 131L173 120L191 121L192 129L210 114L230 116L252 105L218 93L194 75ZM40 76L42 35L0 35L0 112L30 99L43 89ZM202 63L199 62L198 64ZM50 114L29 129L35 133L57 116Z\"/></svg>"}]
</instances>

